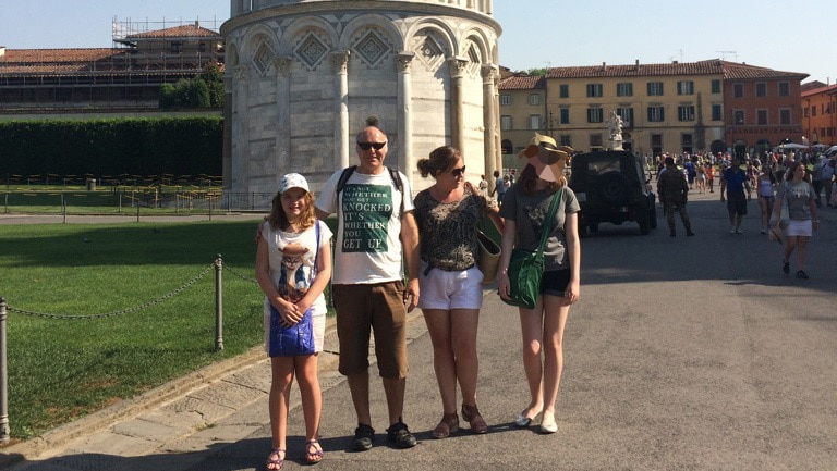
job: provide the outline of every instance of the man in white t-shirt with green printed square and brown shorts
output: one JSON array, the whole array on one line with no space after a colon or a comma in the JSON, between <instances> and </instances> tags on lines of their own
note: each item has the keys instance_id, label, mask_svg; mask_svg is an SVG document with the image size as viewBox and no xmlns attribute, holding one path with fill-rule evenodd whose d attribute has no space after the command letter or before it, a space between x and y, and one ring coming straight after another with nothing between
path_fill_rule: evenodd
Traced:
<instances>
[{"instance_id":1,"label":"man in white t-shirt with green printed square and brown shorts","mask_svg":"<svg viewBox=\"0 0 837 471\"><path fill-rule=\"evenodd\" d=\"M352 448L367 450L375 438L369 411L371 330L389 411L387 438L410 448L416 439L402 413L407 312L418 302L418 228L407 176L384 164L387 135L375 126L366 127L357 134L356 150L360 164L351 176L340 188L344 170L335 172L315 204L317 218L338 215L331 294L340 342L339 371L347 376L357 414ZM407 286L402 256L410 278Z\"/></svg>"}]
</instances>

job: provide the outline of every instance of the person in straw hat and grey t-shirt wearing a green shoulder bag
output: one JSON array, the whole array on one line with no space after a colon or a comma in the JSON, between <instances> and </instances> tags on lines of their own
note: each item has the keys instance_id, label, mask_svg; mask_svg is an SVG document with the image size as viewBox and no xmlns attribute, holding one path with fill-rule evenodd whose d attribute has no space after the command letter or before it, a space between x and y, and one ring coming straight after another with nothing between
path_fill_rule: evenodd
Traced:
<instances>
[{"instance_id":1,"label":"person in straw hat and grey t-shirt wearing a green shoulder bag","mask_svg":"<svg viewBox=\"0 0 837 471\"><path fill-rule=\"evenodd\" d=\"M508 268L512 249L534 251L538 247L541 233L548 226L541 296L534 309L519 308L523 369L530 400L514 422L525 427L543 414L541 431L555 433L558 431L555 402L563 371L563 330L570 306L579 300L581 286L580 207L575 194L563 178L568 154L557 149L553 138L536 134L522 154L529 159L529 164L500 208L506 224L498 288L500 297L508 299ZM545 165L544 162L556 163ZM553 221L545 221L558 191L558 211Z\"/></svg>"}]
</instances>

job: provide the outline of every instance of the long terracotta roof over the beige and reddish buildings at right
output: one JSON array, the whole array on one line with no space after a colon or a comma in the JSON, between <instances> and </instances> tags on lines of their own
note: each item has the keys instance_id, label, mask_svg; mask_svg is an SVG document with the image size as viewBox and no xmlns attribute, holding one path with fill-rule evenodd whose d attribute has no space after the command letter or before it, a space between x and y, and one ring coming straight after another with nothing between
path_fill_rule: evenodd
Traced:
<instances>
[{"instance_id":1,"label":"long terracotta roof over the beige and reddish buildings at right","mask_svg":"<svg viewBox=\"0 0 837 471\"><path fill-rule=\"evenodd\" d=\"M574 67L550 67L547 78L604 78L604 77L647 77L670 75L721 75L726 79L747 78L779 78L792 77L802 79L808 74L797 72L780 72L772 69L756 67L737 62L712 59L700 62L670 62L665 64L606 64Z\"/></svg>"}]
</instances>

